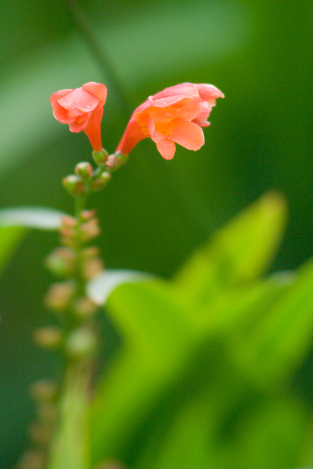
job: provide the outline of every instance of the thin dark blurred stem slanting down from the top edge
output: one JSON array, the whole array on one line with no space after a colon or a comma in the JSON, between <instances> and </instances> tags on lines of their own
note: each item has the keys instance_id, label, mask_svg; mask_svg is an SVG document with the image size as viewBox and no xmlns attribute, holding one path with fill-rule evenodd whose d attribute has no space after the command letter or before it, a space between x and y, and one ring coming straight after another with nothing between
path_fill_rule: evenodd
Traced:
<instances>
[{"instance_id":1,"label":"thin dark blurred stem slanting down from the top edge","mask_svg":"<svg viewBox=\"0 0 313 469\"><path fill-rule=\"evenodd\" d=\"M73 16L76 28L83 35L103 74L108 77L111 86L114 87L114 93L119 101L122 113L125 113L127 117L130 117L132 109L123 89L122 83L120 82L114 67L108 59L107 54L103 50L103 47L99 45L99 42L92 31L92 27L86 14L82 12L76 0L65 0L65 2L67 3L70 13Z\"/></svg>"}]
</instances>

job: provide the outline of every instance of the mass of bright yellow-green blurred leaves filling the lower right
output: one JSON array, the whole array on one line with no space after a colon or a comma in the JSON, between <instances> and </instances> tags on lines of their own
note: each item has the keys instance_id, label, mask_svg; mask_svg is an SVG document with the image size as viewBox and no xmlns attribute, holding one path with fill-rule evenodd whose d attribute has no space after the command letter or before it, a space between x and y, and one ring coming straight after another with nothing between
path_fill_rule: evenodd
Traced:
<instances>
[{"instance_id":1,"label":"mass of bright yellow-green blurred leaves filling the lower right","mask_svg":"<svg viewBox=\"0 0 313 469\"><path fill-rule=\"evenodd\" d=\"M267 194L196 251L176 280L124 285L111 295L107 311L122 348L93 402L95 462L136 469L298 463L309 406L285 381L312 340L312 262L298 277L258 279L284 212L282 198Z\"/></svg>"}]
</instances>

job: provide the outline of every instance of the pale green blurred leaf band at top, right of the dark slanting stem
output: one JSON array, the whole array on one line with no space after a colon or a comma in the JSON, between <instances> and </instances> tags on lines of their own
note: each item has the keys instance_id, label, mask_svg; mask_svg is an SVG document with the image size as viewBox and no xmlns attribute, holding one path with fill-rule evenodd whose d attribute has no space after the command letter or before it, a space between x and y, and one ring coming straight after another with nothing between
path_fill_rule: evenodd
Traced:
<instances>
[{"instance_id":1,"label":"pale green blurred leaf band at top, right of the dark slanting stem","mask_svg":"<svg viewBox=\"0 0 313 469\"><path fill-rule=\"evenodd\" d=\"M164 69L169 74L187 64L228 56L247 42L253 24L248 8L228 0L163 2L161 8L144 2L140 14L132 8L126 15L108 23L100 37L128 86L142 86ZM134 56L134 50L141 53Z\"/></svg>"}]
</instances>

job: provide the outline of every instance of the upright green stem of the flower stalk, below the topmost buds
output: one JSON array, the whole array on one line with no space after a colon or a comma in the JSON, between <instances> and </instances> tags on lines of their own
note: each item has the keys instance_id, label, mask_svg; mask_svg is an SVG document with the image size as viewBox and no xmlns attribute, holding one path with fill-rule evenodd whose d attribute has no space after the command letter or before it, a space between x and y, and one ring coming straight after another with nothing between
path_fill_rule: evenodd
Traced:
<instances>
[{"instance_id":1,"label":"upright green stem of the flower stalk, below the topmost buds","mask_svg":"<svg viewBox=\"0 0 313 469\"><path fill-rule=\"evenodd\" d=\"M86 195L75 197L76 225L76 269L74 280L77 283L75 299L84 296L85 279L81 272L81 252L84 242L81 241L81 226L84 223L82 212L86 205ZM93 354L71 356L67 350L68 340L72 334L84 325L84 331L91 331L90 321L76 316L70 308L67 314L67 327L64 331L64 350L62 353L65 374L59 397L59 416L53 442L50 448L48 469L90 469L90 431L88 391L92 373ZM91 331L92 333L93 331Z\"/></svg>"}]
</instances>

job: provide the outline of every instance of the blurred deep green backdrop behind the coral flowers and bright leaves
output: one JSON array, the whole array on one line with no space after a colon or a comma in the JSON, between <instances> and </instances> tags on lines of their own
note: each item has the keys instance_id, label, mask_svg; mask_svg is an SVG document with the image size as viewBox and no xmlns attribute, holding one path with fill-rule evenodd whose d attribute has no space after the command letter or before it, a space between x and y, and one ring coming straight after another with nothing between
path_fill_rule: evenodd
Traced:
<instances>
[{"instance_id":1,"label":"blurred deep green backdrop behind the coral flowers and bright leaves","mask_svg":"<svg viewBox=\"0 0 313 469\"><path fill-rule=\"evenodd\" d=\"M1 208L72 211L60 180L91 151L84 133L71 134L53 119L53 91L106 83L102 136L114 151L131 112L148 95L184 81L212 83L225 99L210 116L201 150L177 146L167 162L144 140L90 201L102 220L99 244L107 267L170 277L216 227L273 188L285 194L290 210L273 270L295 268L312 256L312 3L89 0L78 7L114 74L77 26L73 4L1 5ZM27 442L27 387L51 366L57 371L53 357L31 344L34 326L53 320L42 307L51 282L42 259L56 243L55 234L32 232L1 279L3 469ZM308 400L310 370L308 358L297 384Z\"/></svg>"}]
</instances>

